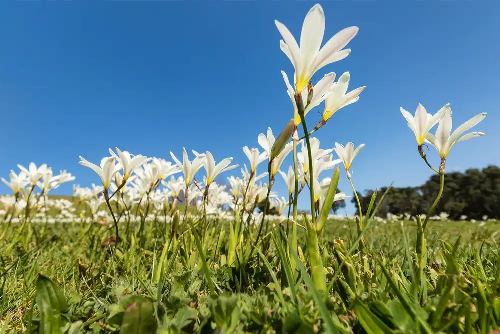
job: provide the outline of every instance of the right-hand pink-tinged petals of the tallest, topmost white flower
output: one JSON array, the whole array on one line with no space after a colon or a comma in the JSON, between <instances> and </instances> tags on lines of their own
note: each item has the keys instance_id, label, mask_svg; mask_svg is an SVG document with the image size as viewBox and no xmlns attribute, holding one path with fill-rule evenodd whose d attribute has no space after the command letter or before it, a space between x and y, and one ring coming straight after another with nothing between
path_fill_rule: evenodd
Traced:
<instances>
[{"instance_id":1,"label":"right-hand pink-tinged petals of the tallest, topmost white flower","mask_svg":"<svg viewBox=\"0 0 500 334\"><path fill-rule=\"evenodd\" d=\"M350 49L342 50L359 31L358 27L347 27L333 35L332 38L319 50L314 61L313 72L316 72L323 66L338 60L344 59L350 54Z\"/></svg>"}]
</instances>

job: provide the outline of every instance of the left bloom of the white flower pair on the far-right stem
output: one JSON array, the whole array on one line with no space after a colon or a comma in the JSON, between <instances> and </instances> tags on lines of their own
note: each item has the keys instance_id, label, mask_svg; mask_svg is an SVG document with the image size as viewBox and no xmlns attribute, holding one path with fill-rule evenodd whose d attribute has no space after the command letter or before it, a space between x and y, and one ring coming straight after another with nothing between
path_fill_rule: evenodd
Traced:
<instances>
[{"instance_id":1,"label":"left bloom of the white flower pair on the far-right stem","mask_svg":"<svg viewBox=\"0 0 500 334\"><path fill-rule=\"evenodd\" d=\"M425 136L429 133L430 129L439 122L439 120L444 116L444 112L449 109L449 103L445 104L437 113L432 116L427 113L427 110L420 103L416 107L415 117L411 115L408 111L400 107L401 114L403 114L406 121L408 121L409 128L415 133L416 141L418 146L422 145L425 141Z\"/></svg>"}]
</instances>

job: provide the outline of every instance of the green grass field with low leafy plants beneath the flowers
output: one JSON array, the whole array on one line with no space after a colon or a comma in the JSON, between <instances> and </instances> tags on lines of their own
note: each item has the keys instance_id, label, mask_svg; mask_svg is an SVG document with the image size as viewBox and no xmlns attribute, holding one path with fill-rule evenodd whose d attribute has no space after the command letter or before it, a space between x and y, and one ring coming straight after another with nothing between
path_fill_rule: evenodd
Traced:
<instances>
[{"instance_id":1,"label":"green grass field with low leafy plants beneath the flowers","mask_svg":"<svg viewBox=\"0 0 500 334\"><path fill-rule=\"evenodd\" d=\"M191 223L195 231L181 221L170 238L169 223L149 222L116 251L111 225L12 225L0 241L0 333L489 333L500 324L496 222L430 222L417 277L416 223L373 222L361 255L356 224L327 221L327 291L309 277L301 228L298 254L277 225L249 261L241 242L228 265L228 224Z\"/></svg>"}]
</instances>

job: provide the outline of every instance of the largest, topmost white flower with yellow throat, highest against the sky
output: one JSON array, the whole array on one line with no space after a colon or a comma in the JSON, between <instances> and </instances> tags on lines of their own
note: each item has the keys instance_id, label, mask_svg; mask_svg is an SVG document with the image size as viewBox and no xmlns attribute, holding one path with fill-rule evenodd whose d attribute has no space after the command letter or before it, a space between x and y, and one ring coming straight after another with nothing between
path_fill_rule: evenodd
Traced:
<instances>
[{"instance_id":1,"label":"largest, topmost white flower with yellow throat, highest against the sky","mask_svg":"<svg viewBox=\"0 0 500 334\"><path fill-rule=\"evenodd\" d=\"M301 92L317 70L330 63L344 59L350 49L343 49L359 28L348 27L336 33L321 48L324 35L324 12L321 5L314 5L307 13L302 25L300 47L288 28L279 21L274 21L283 40L279 41L281 50L288 56L295 68L295 88Z\"/></svg>"}]
</instances>

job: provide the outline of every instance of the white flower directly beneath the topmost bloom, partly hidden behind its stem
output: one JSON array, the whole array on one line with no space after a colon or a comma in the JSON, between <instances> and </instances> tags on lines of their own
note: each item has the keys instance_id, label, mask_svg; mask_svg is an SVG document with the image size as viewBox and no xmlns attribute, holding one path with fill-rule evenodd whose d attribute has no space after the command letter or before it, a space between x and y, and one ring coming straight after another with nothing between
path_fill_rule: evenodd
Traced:
<instances>
[{"instance_id":1,"label":"white flower directly beneath the topmost bloom, partly hidden behind its stem","mask_svg":"<svg viewBox=\"0 0 500 334\"><path fill-rule=\"evenodd\" d=\"M284 82L286 84L286 92L288 93L288 96L291 99L291 102L293 103L293 122L295 123L295 126L299 125L301 122L300 115L298 114L298 107L297 107L297 102L295 100L295 90L293 87L290 85L290 81L288 80L288 76L284 71L281 71L281 74L283 75ZM321 78L321 80L318 81L318 83L314 86L313 88L313 93L312 93L312 100L310 103L307 105L307 96L308 96L308 91L306 89L302 90L300 93L303 104L304 104L304 116L307 115L307 113L314 107L318 106L321 102L323 102L328 95L333 91L335 88L335 73L331 72L326 74L324 77Z\"/></svg>"}]
</instances>

